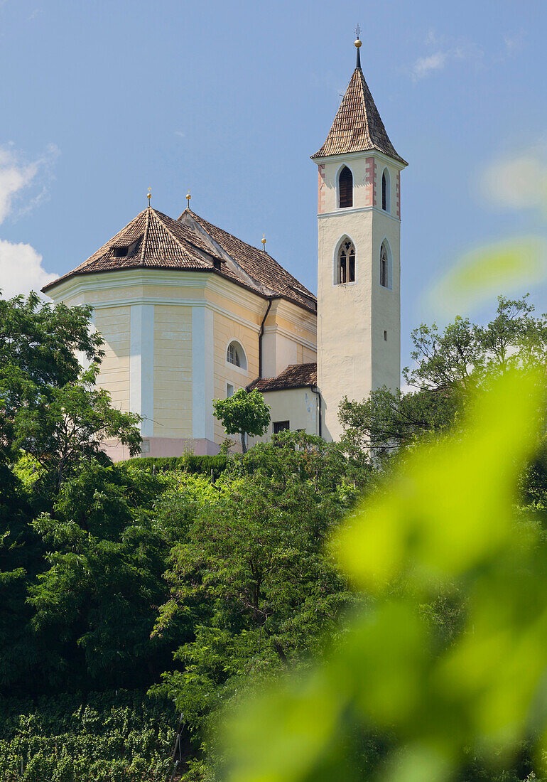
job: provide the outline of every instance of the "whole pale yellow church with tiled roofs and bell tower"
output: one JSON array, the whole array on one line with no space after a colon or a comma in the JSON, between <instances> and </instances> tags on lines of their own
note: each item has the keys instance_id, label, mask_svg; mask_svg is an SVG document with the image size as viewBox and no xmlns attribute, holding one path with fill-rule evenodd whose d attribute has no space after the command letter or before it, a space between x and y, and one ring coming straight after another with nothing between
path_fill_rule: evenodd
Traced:
<instances>
[{"instance_id":1,"label":"whole pale yellow church with tiled roofs and bell tower","mask_svg":"<svg viewBox=\"0 0 547 782\"><path fill-rule=\"evenodd\" d=\"M213 399L259 389L270 428L341 434L338 405L399 388L400 173L360 63L317 166L317 296L266 252L188 206L148 207L43 289L91 304L105 342L98 383L141 418L142 454L216 454ZM250 443L252 444L252 442ZM115 459L120 443L106 443Z\"/></svg>"}]
</instances>

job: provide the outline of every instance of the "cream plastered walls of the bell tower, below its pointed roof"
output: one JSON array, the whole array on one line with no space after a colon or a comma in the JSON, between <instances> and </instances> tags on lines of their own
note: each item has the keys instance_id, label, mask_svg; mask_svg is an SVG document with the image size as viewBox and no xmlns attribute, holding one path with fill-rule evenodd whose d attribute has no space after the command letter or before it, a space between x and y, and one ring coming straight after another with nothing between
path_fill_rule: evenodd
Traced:
<instances>
[{"instance_id":1,"label":"cream plastered walls of the bell tower, below its pointed roof","mask_svg":"<svg viewBox=\"0 0 547 782\"><path fill-rule=\"evenodd\" d=\"M372 389L400 383L400 209L402 166L381 153L316 160L318 192L318 385L323 436L341 436L344 396L362 401ZM353 175L353 206L338 208L338 174ZM381 177L388 168L390 212L381 209ZM356 249L355 282L337 282L338 249L348 237ZM380 283L381 245L389 246L388 287Z\"/></svg>"}]
</instances>

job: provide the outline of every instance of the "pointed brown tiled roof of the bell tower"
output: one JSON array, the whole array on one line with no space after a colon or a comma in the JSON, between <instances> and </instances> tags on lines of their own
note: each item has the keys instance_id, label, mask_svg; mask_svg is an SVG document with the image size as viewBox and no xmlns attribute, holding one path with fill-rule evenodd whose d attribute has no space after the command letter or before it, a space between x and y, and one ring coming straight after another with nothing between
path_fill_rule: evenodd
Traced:
<instances>
[{"instance_id":1,"label":"pointed brown tiled roof of the bell tower","mask_svg":"<svg viewBox=\"0 0 547 782\"><path fill-rule=\"evenodd\" d=\"M357 67L353 71L348 89L334 117L327 140L321 149L312 155L312 160L316 157L344 155L346 152L367 152L374 149L406 165L406 160L395 152L395 147L389 140L380 113L370 95L363 71Z\"/></svg>"}]
</instances>

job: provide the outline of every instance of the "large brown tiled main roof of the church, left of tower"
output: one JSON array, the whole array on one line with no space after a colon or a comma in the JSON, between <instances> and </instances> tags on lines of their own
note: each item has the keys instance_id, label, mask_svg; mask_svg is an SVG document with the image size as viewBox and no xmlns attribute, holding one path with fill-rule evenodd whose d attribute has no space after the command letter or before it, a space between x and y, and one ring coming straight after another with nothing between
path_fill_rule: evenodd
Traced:
<instances>
[{"instance_id":1,"label":"large brown tiled main roof of the church, left of tower","mask_svg":"<svg viewBox=\"0 0 547 782\"><path fill-rule=\"evenodd\" d=\"M209 271L264 298L284 298L312 312L316 297L268 253L216 228L191 210L173 220L148 206L73 271L42 289L48 292L78 274L129 269Z\"/></svg>"}]
</instances>

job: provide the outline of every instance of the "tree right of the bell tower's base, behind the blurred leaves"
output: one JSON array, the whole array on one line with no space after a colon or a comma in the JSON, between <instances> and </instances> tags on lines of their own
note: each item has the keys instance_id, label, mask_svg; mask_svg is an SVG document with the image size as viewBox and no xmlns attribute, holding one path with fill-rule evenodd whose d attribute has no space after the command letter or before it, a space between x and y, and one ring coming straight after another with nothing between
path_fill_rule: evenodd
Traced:
<instances>
[{"instance_id":1,"label":"tree right of the bell tower's base, behind the blurred leaves","mask_svg":"<svg viewBox=\"0 0 547 782\"><path fill-rule=\"evenodd\" d=\"M534 317L527 296L499 296L487 325L456 317L443 332L420 325L412 332L412 368L403 370L409 390L376 389L366 400L340 404L342 442L352 453L389 454L431 432L450 429L477 389L515 368L547 361L547 316Z\"/></svg>"}]
</instances>

